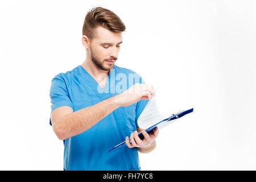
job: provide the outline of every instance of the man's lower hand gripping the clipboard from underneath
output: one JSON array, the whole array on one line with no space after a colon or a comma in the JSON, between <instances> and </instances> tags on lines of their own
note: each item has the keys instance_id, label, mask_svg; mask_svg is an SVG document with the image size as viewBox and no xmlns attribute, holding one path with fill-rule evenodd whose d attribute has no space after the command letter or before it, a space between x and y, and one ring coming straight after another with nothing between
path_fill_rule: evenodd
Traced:
<instances>
[{"instance_id":1,"label":"man's lower hand gripping the clipboard from underneath","mask_svg":"<svg viewBox=\"0 0 256 182\"><path fill-rule=\"evenodd\" d=\"M142 134L144 136L144 139L140 139L138 133L142 131ZM154 129L153 134L148 134L146 131L143 131L141 128L137 128L137 131L134 131L134 133L131 133L129 142L129 137L125 138L125 143L129 148L137 147L138 151L141 153L148 153L155 149L156 147L156 141L155 138L158 137L158 128L156 127Z\"/></svg>"}]
</instances>

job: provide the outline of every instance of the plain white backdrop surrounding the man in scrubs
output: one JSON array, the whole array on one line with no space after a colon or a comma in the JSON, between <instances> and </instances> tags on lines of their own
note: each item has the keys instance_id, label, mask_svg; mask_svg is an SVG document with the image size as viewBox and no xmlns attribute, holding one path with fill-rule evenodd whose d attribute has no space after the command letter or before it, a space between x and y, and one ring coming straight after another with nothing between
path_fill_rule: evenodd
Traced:
<instances>
[{"instance_id":1,"label":"plain white backdrop surrounding the man in scrubs","mask_svg":"<svg viewBox=\"0 0 256 182\"><path fill-rule=\"evenodd\" d=\"M256 169L255 1L1 1L0 169L62 170L52 78L85 60L82 24L105 7L126 25L117 65L194 112L160 130L142 170Z\"/></svg>"}]
</instances>

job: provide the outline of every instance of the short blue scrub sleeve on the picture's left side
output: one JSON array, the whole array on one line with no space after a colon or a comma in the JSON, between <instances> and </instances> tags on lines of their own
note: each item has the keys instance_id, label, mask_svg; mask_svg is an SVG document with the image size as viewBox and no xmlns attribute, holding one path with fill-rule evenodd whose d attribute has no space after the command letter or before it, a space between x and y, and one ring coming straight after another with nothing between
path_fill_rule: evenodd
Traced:
<instances>
[{"instance_id":1,"label":"short blue scrub sleeve on the picture's left side","mask_svg":"<svg viewBox=\"0 0 256 182\"><path fill-rule=\"evenodd\" d=\"M73 108L73 104L69 98L67 84L63 77L60 75L55 76L52 79L51 89L49 92L49 97L51 98L51 112L57 107L69 106ZM51 125L51 117L50 117Z\"/></svg>"}]
</instances>

